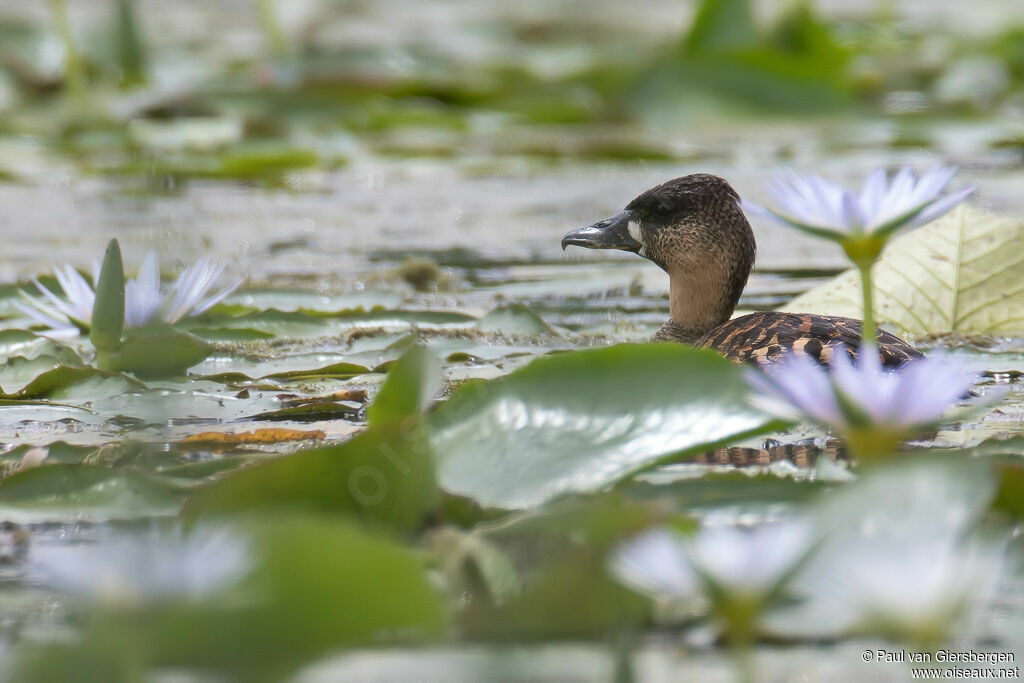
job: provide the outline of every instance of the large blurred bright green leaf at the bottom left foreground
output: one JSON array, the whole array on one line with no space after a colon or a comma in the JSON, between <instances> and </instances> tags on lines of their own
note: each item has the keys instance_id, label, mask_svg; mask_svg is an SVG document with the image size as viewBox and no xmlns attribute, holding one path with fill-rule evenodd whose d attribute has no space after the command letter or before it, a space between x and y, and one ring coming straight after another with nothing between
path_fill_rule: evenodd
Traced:
<instances>
[{"instance_id":1,"label":"large blurred bright green leaf at the bottom left foreground","mask_svg":"<svg viewBox=\"0 0 1024 683\"><path fill-rule=\"evenodd\" d=\"M412 549L336 519L286 515L242 528L256 560L239 589L245 599L157 615L148 635L158 661L280 681L330 650L444 633L441 596Z\"/></svg>"}]
</instances>

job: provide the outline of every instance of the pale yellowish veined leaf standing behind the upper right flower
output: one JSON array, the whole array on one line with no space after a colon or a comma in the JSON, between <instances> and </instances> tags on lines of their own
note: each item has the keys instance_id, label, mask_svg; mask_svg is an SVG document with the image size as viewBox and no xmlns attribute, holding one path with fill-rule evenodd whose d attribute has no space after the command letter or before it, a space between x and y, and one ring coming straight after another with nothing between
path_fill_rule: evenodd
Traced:
<instances>
[{"instance_id":1,"label":"pale yellowish veined leaf standing behind the upper right flower","mask_svg":"<svg viewBox=\"0 0 1024 683\"><path fill-rule=\"evenodd\" d=\"M903 234L874 265L874 314L909 334L1024 332L1024 221L961 207ZM849 270L783 310L862 317Z\"/></svg>"}]
</instances>

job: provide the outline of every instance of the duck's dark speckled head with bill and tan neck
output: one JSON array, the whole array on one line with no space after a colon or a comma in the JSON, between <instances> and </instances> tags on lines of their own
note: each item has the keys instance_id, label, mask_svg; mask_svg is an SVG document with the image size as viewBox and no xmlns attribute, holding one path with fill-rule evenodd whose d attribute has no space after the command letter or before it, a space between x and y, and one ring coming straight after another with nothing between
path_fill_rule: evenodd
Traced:
<instances>
[{"instance_id":1,"label":"duck's dark speckled head with bill and tan neck","mask_svg":"<svg viewBox=\"0 0 1024 683\"><path fill-rule=\"evenodd\" d=\"M707 331L729 319L754 266L754 232L728 182L707 173L652 187L621 213L567 232L569 245L631 251L669 273L672 319Z\"/></svg>"}]
</instances>

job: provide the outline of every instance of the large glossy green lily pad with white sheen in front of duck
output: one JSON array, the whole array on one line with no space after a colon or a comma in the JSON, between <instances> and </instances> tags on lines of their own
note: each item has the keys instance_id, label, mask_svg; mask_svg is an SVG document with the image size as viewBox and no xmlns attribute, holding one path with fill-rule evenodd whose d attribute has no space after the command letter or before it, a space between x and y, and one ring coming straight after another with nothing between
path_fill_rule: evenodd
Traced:
<instances>
[{"instance_id":1,"label":"large glossy green lily pad with white sheen in front of duck","mask_svg":"<svg viewBox=\"0 0 1024 683\"><path fill-rule=\"evenodd\" d=\"M463 385L430 416L440 483L501 508L598 490L772 426L745 395L739 368L680 344L538 358Z\"/></svg>"}]
</instances>

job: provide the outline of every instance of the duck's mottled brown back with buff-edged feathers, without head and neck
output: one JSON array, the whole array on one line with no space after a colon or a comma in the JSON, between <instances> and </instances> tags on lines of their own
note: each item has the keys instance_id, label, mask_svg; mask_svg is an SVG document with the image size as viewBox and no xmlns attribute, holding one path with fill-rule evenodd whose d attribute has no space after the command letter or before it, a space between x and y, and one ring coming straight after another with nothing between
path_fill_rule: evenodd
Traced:
<instances>
[{"instance_id":1,"label":"duck's mottled brown back with buff-edged feathers, without head and neck","mask_svg":"<svg viewBox=\"0 0 1024 683\"><path fill-rule=\"evenodd\" d=\"M845 347L851 357L856 357L860 348L860 321L764 311L720 325L692 344L713 348L733 362L763 365L792 352L827 365L839 347ZM897 368L910 358L921 357L921 352L898 337L880 331L879 356L885 367Z\"/></svg>"}]
</instances>

